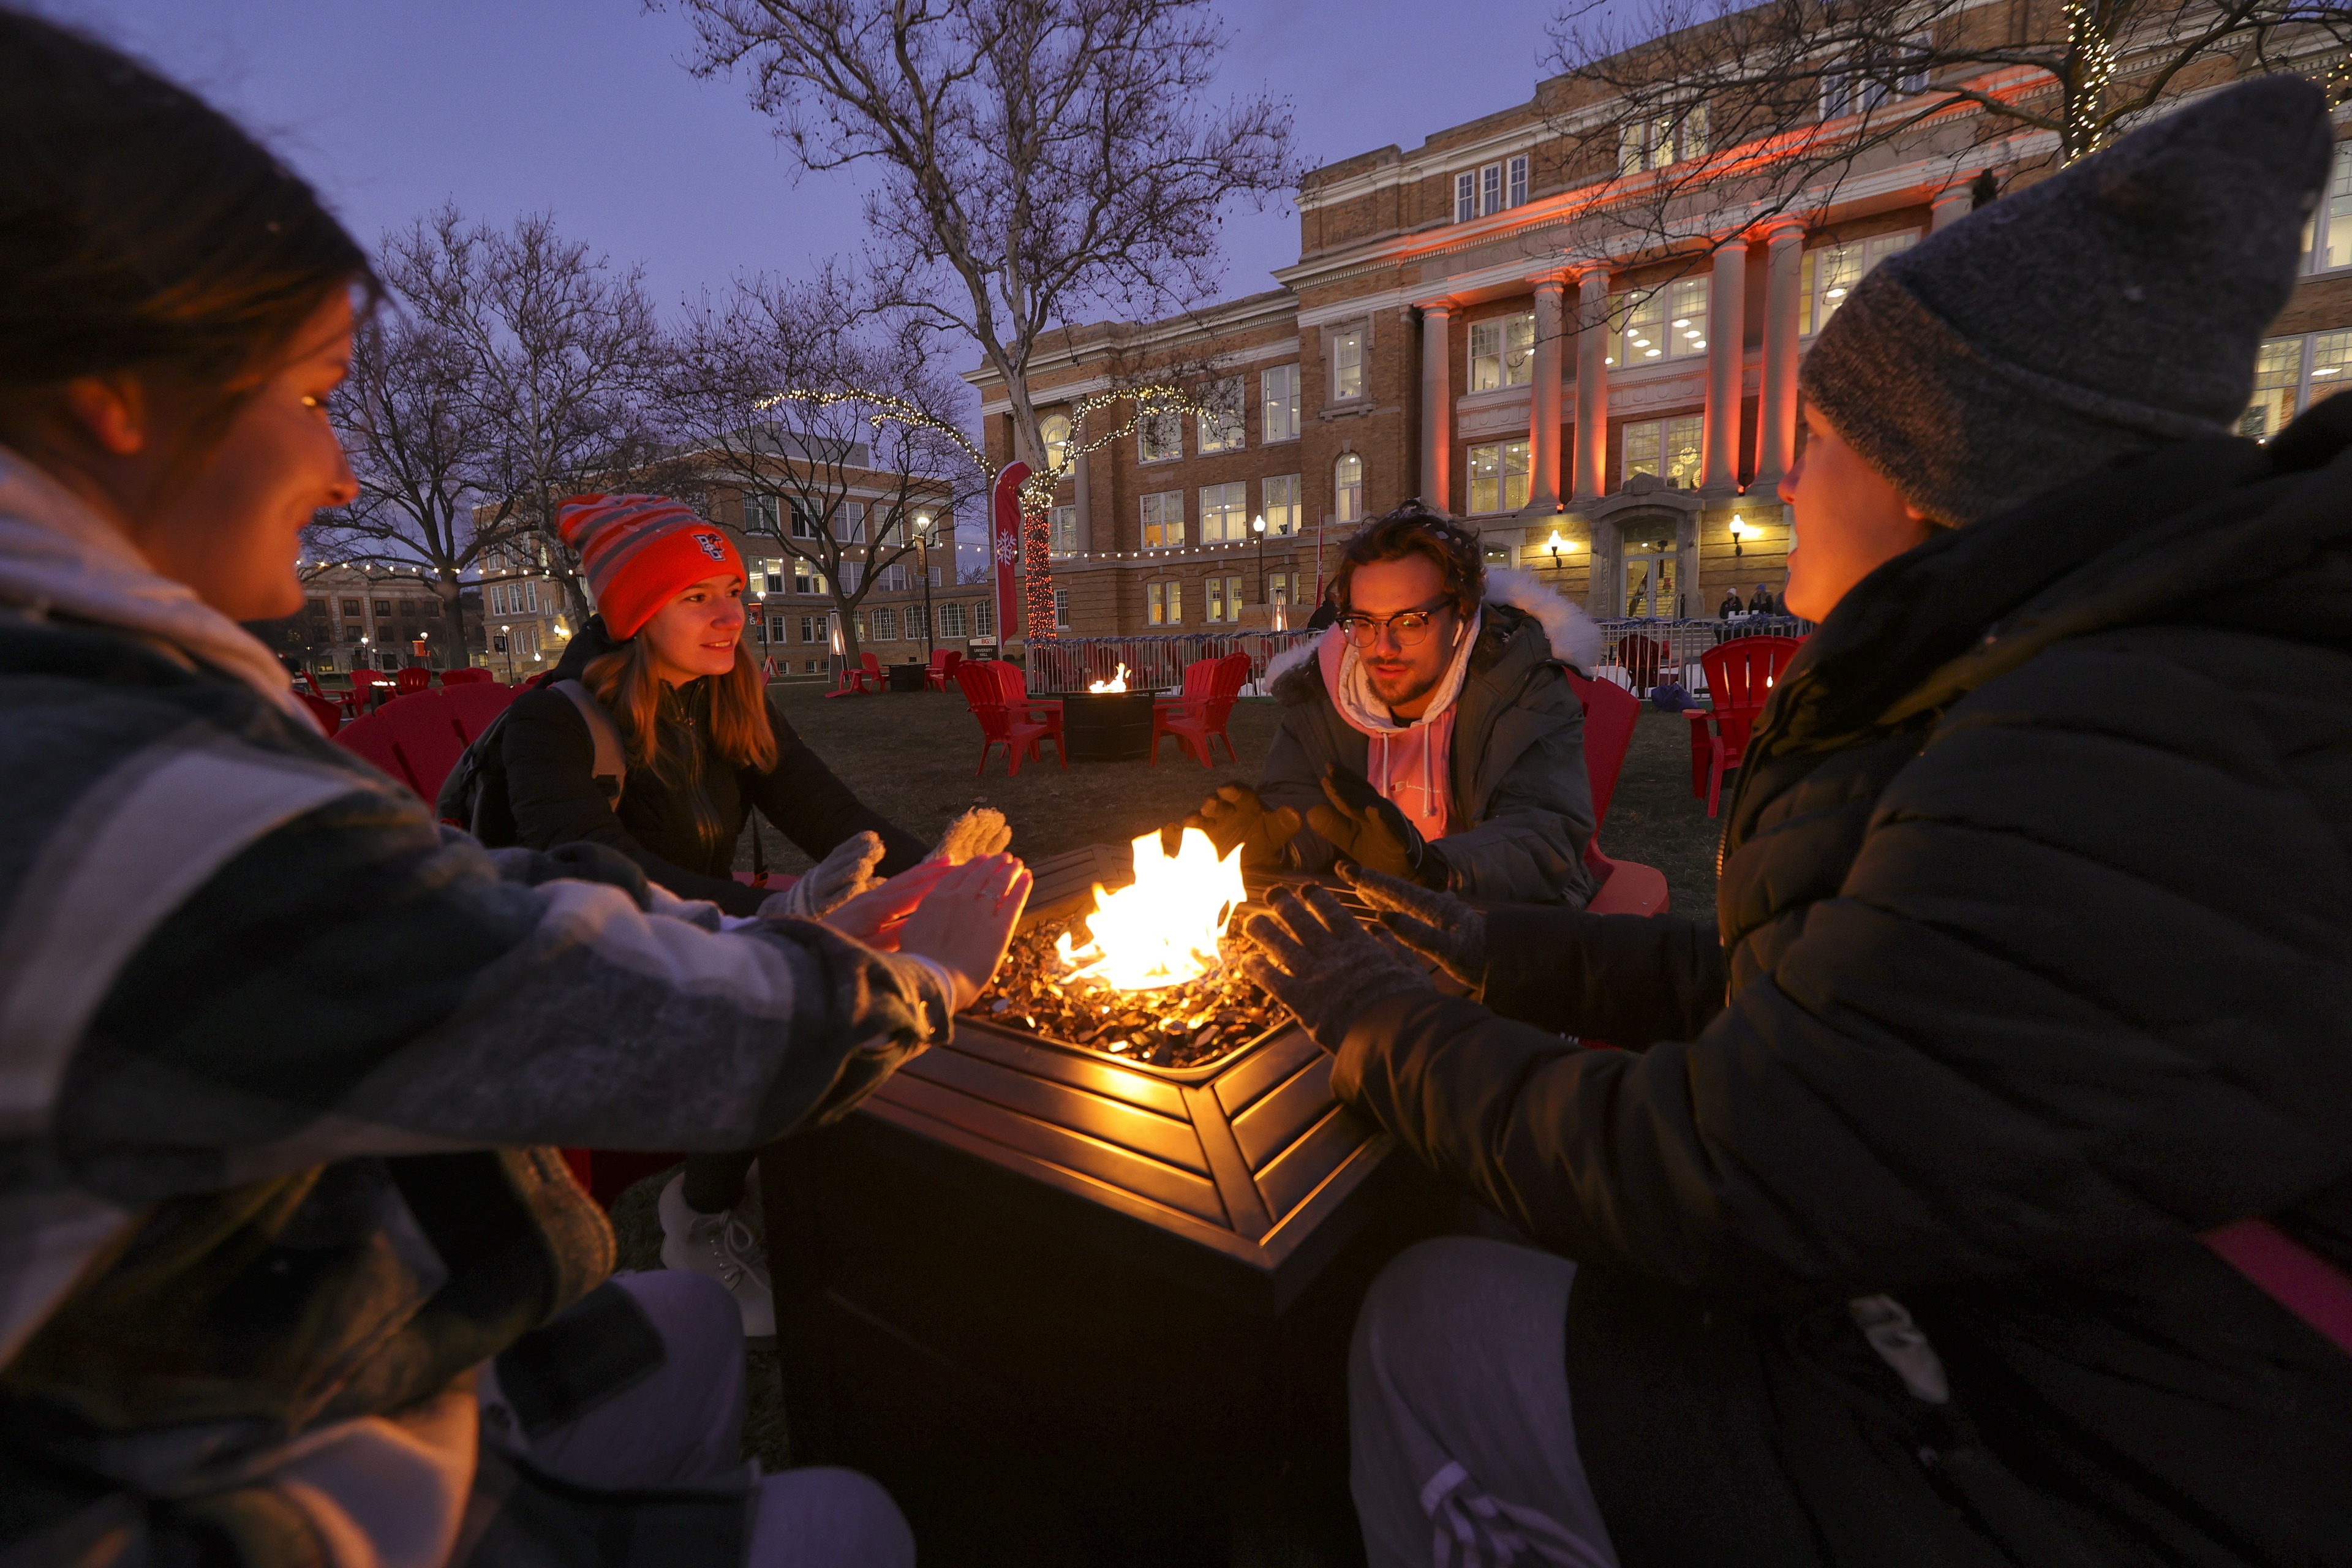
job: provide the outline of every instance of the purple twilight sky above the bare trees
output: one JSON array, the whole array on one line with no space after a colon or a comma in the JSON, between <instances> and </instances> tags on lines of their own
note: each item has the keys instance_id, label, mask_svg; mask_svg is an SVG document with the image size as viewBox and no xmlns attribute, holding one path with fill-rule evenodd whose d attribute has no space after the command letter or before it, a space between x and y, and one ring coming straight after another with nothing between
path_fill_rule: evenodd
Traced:
<instances>
[{"instance_id":1,"label":"purple twilight sky above the bare trees","mask_svg":"<svg viewBox=\"0 0 2352 1568\"><path fill-rule=\"evenodd\" d=\"M42 2L42 0L35 0ZM666 310L736 273L807 273L861 242L856 172L800 179L739 82L680 66L675 12L637 0L45 0L261 132L369 244L456 200L553 209ZM1225 87L1296 108L1329 162L1524 103L1545 0L1228 7ZM1225 294L1298 256L1287 202L1225 223Z\"/></svg>"}]
</instances>

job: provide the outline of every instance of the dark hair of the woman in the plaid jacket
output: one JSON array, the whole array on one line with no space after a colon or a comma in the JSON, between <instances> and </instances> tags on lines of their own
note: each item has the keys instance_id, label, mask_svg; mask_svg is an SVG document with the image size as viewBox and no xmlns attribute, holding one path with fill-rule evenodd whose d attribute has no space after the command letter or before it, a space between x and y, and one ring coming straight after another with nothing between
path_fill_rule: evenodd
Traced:
<instances>
[{"instance_id":1,"label":"dark hair of the woman in the plaid jacket","mask_svg":"<svg viewBox=\"0 0 2352 1568\"><path fill-rule=\"evenodd\" d=\"M216 108L92 38L0 9L0 440L75 376L169 371L235 416L334 294L376 294L318 193Z\"/></svg>"}]
</instances>

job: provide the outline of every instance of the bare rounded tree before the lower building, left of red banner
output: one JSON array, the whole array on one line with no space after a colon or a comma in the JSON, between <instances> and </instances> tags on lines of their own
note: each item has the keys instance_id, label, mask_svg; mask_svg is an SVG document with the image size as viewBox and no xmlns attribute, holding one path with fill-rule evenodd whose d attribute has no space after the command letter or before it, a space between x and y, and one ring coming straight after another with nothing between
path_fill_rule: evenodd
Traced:
<instances>
[{"instance_id":1,"label":"bare rounded tree before the lower building, left of red banner","mask_svg":"<svg viewBox=\"0 0 2352 1568\"><path fill-rule=\"evenodd\" d=\"M858 604L917 564L917 534L976 508L985 463L957 428L964 388L906 317L842 310L842 280L739 280L670 339L659 409L680 461L743 496L743 531L826 581L842 646Z\"/></svg>"}]
</instances>

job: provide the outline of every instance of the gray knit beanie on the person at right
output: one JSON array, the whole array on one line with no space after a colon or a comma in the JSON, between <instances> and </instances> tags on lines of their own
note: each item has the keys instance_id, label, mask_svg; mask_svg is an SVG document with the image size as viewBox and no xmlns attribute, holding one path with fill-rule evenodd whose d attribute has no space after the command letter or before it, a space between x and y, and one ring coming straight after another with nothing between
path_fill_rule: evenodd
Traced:
<instances>
[{"instance_id":1,"label":"gray knit beanie on the person at right","mask_svg":"<svg viewBox=\"0 0 2352 1568\"><path fill-rule=\"evenodd\" d=\"M1889 256L1797 386L1940 524L2220 435L2293 292L2328 153L2310 82L2218 92Z\"/></svg>"}]
</instances>

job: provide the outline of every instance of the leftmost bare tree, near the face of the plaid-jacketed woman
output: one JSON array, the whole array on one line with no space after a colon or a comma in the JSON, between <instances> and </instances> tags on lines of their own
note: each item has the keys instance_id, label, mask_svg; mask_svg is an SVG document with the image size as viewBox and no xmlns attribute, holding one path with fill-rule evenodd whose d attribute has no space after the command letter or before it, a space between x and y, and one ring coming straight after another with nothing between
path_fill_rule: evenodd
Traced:
<instances>
[{"instance_id":1,"label":"leftmost bare tree, near the face of the plaid-jacketed woman","mask_svg":"<svg viewBox=\"0 0 2352 1568\"><path fill-rule=\"evenodd\" d=\"M393 301L353 341L350 376L332 404L360 496L325 512L303 541L322 559L407 576L437 595L449 607L449 658L463 661L463 576L515 536L510 520L477 522L496 468L496 430L480 409L468 355L447 331L405 313L397 270L388 284Z\"/></svg>"}]
</instances>

